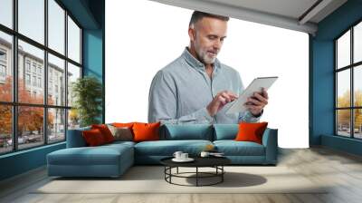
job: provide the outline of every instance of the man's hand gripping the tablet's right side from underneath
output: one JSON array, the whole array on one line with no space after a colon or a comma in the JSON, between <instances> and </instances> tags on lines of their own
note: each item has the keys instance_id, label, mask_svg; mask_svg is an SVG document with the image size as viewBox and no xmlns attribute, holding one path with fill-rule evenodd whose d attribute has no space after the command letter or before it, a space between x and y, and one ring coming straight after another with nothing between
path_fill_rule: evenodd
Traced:
<instances>
[{"instance_id":1,"label":"man's hand gripping the tablet's right side from underneath","mask_svg":"<svg viewBox=\"0 0 362 203\"><path fill-rule=\"evenodd\" d=\"M262 88L262 92L254 92L244 105L253 116L257 117L261 115L262 109L268 104L268 99L268 92Z\"/></svg>"}]
</instances>

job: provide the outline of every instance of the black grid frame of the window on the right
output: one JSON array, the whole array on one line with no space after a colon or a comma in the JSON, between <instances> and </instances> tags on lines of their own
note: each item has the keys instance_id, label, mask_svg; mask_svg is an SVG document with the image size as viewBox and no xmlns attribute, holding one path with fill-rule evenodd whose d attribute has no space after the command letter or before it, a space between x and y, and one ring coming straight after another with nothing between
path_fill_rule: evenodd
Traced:
<instances>
[{"instance_id":1,"label":"black grid frame of the window on the right","mask_svg":"<svg viewBox=\"0 0 362 203\"><path fill-rule=\"evenodd\" d=\"M350 25L347 30L339 34L334 40L334 135L338 137L353 139L353 140L362 140L362 138L356 138L355 137L355 111L362 109L362 106L355 106L355 89L354 89L354 83L355 83L355 77L354 72L355 69L358 68L358 66L362 65L362 61L354 63L354 28L357 26L357 24L362 24L362 19L359 19L354 24ZM340 67L338 69L338 39L342 37L344 34L347 34L348 31L350 32L349 38L350 38L350 58L349 58L349 64L344 67ZM338 107L338 73L342 71L349 70L349 88L350 88L350 95L349 95L349 107ZM349 137L343 136L338 134L338 110L349 110Z\"/></svg>"}]
</instances>

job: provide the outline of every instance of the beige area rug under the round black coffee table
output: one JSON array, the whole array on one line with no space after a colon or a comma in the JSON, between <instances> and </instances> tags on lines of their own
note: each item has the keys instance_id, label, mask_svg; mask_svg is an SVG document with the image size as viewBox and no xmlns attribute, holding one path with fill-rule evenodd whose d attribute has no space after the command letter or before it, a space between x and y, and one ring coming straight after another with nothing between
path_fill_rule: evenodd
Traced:
<instances>
[{"instance_id":1,"label":"beige area rug under the round black coffee table","mask_svg":"<svg viewBox=\"0 0 362 203\"><path fill-rule=\"evenodd\" d=\"M326 193L318 186L286 167L225 167L224 182L205 187L187 187L165 181L160 166L135 166L119 179L50 179L33 193L113 194L113 193ZM204 169L209 171L211 169ZM192 172L183 168L179 172ZM173 170L176 172L176 169ZM194 176L194 175L190 175ZM202 179L207 184L217 179ZM173 178L178 184L195 185L195 178ZM208 182L209 181L209 182Z\"/></svg>"}]
</instances>

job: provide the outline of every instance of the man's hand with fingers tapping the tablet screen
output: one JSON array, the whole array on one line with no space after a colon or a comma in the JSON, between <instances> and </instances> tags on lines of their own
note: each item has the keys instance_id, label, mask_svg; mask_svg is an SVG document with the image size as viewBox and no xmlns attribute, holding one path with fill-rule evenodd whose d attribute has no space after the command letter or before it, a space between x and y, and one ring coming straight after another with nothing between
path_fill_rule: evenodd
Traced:
<instances>
[{"instance_id":1,"label":"man's hand with fingers tapping the tablet screen","mask_svg":"<svg viewBox=\"0 0 362 203\"><path fill-rule=\"evenodd\" d=\"M214 115L218 111L220 111L224 107L224 105L226 105L229 102L233 102L237 98L238 96L233 92L229 91L218 92L214 97L213 101L211 101L207 105L206 109L209 112L210 116L214 117Z\"/></svg>"}]
</instances>

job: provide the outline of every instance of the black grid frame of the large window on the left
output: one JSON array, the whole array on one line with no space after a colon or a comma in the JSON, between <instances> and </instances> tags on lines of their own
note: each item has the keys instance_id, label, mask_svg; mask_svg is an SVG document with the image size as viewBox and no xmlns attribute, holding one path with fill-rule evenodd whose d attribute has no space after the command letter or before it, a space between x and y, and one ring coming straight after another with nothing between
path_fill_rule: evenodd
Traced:
<instances>
[{"instance_id":1,"label":"black grid frame of the large window on the left","mask_svg":"<svg viewBox=\"0 0 362 203\"><path fill-rule=\"evenodd\" d=\"M10 151L5 151L5 152L0 152L0 156L4 155L4 154L9 154L9 153L14 153L17 151L21 151L21 150L30 150L33 148L39 148L42 147L44 145L49 145L49 144L56 144L59 142L63 142L67 140L67 130L68 130L68 114L69 111L71 110L71 106L68 106L68 98L65 97L65 101L60 105L51 105L48 104L48 88L49 88L49 82L48 82L48 53L52 54L55 57L58 57L60 59L62 59L64 61L64 75L68 74L68 63L71 63L77 67L80 68L81 70L81 75L80 78L83 77L83 63L82 63L82 48L83 48L83 41L82 41L82 34L83 34L83 27L81 26L81 24L75 19L75 17L71 14L71 12L69 12L64 5L62 5L62 3L59 0L53 0L57 5L59 5L63 10L64 10L64 16L63 16L63 21L64 21L64 53L58 53L57 51L53 50L52 48L49 47L48 44L48 39L49 39L49 35L48 35L48 22L49 22L49 14L48 14L48 1L49 0L43 0L44 2L44 43L38 43L35 40L31 39L30 37L27 37L24 34L20 34L18 32L18 0L13 0L12 1L12 9L13 9L13 16L12 16L12 20L13 20L13 27L9 28L7 26L5 26L4 24L0 24L0 32L3 32L5 34L10 34L12 36L12 54L11 54L11 63L9 68L12 69L13 72L13 100L12 102L1 102L0 101L0 105L10 105L12 108L12 139L13 139L13 146L12 146L12 150ZM71 20L80 28L80 63L77 63L75 61L73 61L71 58L68 57L68 16L71 18ZM39 48L41 50L43 50L44 53L44 57L43 57L43 76L41 77L41 82L43 82L42 87L43 87L43 103L42 104L35 104L35 103L24 103L24 102L19 102L18 101L18 58L19 58L19 52L18 52L18 41L21 40L24 43L29 43L30 45L33 45L36 48ZM28 61L26 60L26 58L24 58L24 64L26 64ZM35 73L33 73L33 63L30 63L30 72L28 72L27 66L24 65L23 69L24 69L24 74L25 73L29 73L31 75L31 78L33 75L36 75L38 78L38 72L37 72L37 68L38 68L37 64L35 66ZM68 89L69 89L69 84L68 84L68 77L65 77L64 80L64 84L65 84L65 90L64 93L65 95L67 95L68 93ZM26 80L26 79L25 79ZM32 80L32 79L31 79ZM25 82L25 81L24 81ZM31 83L33 83L33 81L31 81ZM36 85L34 87L38 87L38 82L36 82ZM33 92L32 92L33 93ZM24 149L19 149L18 146L18 108L19 107L41 107L43 108L43 130L47 130L48 129L48 111L51 109L60 109L60 110L64 110L64 139L63 140L56 140L56 141L49 141L49 133L48 131L43 131L43 143L40 143L39 145L36 145L34 147L29 147L29 148L24 148Z\"/></svg>"}]
</instances>

